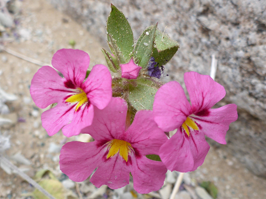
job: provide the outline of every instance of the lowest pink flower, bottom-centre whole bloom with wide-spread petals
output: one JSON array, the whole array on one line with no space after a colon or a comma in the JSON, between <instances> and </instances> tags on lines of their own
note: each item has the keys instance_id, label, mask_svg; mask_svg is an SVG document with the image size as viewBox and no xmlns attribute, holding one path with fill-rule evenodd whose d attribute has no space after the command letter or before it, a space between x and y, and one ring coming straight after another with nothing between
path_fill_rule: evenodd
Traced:
<instances>
[{"instance_id":1,"label":"lowest pink flower, bottom-centre whole bloom with wide-spread petals","mask_svg":"<svg viewBox=\"0 0 266 199\"><path fill-rule=\"evenodd\" d=\"M154 122L152 111L138 111L126 129L127 103L112 98L103 110L95 108L93 124L82 130L94 142L68 142L61 149L60 170L71 180L90 179L96 187L108 185L111 189L129 184L129 172L134 189L139 193L159 190L165 179L166 167L162 162L145 155L159 154L167 137Z\"/></svg>"}]
</instances>

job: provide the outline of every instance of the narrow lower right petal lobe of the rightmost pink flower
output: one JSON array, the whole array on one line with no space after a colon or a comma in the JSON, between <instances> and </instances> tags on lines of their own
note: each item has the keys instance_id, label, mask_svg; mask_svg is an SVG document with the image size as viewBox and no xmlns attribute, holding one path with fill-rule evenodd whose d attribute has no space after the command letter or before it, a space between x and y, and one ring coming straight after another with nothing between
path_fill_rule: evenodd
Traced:
<instances>
[{"instance_id":1,"label":"narrow lower right petal lobe of the rightmost pink flower","mask_svg":"<svg viewBox=\"0 0 266 199\"><path fill-rule=\"evenodd\" d=\"M203 164L210 149L210 145L206 142L204 134L202 134L202 132L199 132L198 134L195 132L196 131L191 133L189 136L190 150L194 159L194 166L190 171L196 170Z\"/></svg>"}]
</instances>

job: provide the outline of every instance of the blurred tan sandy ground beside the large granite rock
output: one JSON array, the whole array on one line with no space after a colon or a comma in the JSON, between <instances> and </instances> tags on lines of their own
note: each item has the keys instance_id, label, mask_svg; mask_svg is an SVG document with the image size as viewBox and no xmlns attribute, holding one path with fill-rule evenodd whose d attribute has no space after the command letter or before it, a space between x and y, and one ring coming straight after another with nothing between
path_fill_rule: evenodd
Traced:
<instances>
[{"instance_id":1,"label":"blurred tan sandy ground beside the large granite rock","mask_svg":"<svg viewBox=\"0 0 266 199\"><path fill-rule=\"evenodd\" d=\"M90 55L90 67L105 64L99 39L46 1L25 0L21 9L17 31L22 37L4 42L5 47L51 65L53 54L61 48L71 48L69 40L74 39L75 48ZM31 177L42 168L50 168L59 177L59 157L48 152L49 143L62 145L75 138L66 139L61 132L49 137L41 126L40 115L44 110L35 106L29 92L31 79L40 66L4 51L0 53L0 58L0 86L18 97L17 101L8 104L9 117L20 121L11 127L1 127L1 133L10 135L12 141L6 155L12 157L20 152L30 160L29 166L14 163L24 168ZM211 147L204 164L190 173L192 179L197 182L213 181L219 190L218 198L266 198L266 180L252 175L231 154L225 153L223 147L215 146ZM0 198L25 198L21 194L30 191L33 188L22 178L8 175L0 168Z\"/></svg>"}]
</instances>

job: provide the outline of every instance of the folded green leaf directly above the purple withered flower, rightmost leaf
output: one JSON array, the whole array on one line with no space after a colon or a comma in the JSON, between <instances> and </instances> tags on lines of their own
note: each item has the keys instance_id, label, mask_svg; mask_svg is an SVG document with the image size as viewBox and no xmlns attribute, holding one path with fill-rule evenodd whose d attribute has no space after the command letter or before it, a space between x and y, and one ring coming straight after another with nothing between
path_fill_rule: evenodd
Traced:
<instances>
[{"instance_id":1,"label":"folded green leaf directly above the purple withered flower, rightmost leaf","mask_svg":"<svg viewBox=\"0 0 266 199\"><path fill-rule=\"evenodd\" d=\"M171 40L167 34L156 29L152 56L158 66L166 65L178 49L178 42Z\"/></svg>"}]
</instances>

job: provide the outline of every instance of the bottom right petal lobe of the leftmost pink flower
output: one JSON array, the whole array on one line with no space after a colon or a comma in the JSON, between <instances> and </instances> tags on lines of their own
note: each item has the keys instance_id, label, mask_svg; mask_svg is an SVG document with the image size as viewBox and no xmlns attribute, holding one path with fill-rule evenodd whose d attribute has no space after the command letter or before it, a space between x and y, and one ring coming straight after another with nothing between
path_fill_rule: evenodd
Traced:
<instances>
[{"instance_id":1,"label":"bottom right petal lobe of the leftmost pink flower","mask_svg":"<svg viewBox=\"0 0 266 199\"><path fill-rule=\"evenodd\" d=\"M80 131L86 126L90 126L93 121L93 105L86 105L74 113L72 121L63 127L62 132L70 137L80 134Z\"/></svg>"}]
</instances>

